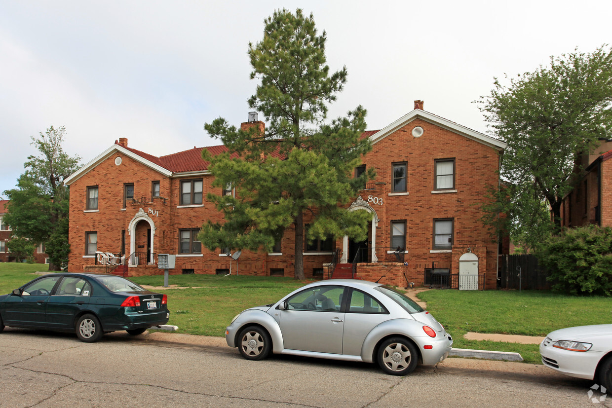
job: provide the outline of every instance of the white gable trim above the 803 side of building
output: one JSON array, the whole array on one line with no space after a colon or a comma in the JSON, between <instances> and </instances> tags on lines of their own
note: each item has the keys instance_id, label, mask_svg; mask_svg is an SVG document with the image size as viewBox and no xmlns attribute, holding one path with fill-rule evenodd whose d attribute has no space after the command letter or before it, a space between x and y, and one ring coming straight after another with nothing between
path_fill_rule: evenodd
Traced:
<instances>
[{"instance_id":1,"label":"white gable trim above the 803 side of building","mask_svg":"<svg viewBox=\"0 0 612 408\"><path fill-rule=\"evenodd\" d=\"M443 117L436 116L433 113L429 113L421 109L414 109L414 111L400 117L400 119L397 119L397 121L371 135L370 140L372 144L378 143L391 133L398 130L398 128L404 127L417 118L423 119L424 121L435 124L441 128L450 130L451 132L458 133L461 136L465 136L468 139L485 144L486 146L493 147L493 149L496 150L504 150L507 146L506 143L499 141L498 139L491 138L491 136L485 135L484 133L476 132L476 130L461 126L455 122L449 121L448 119L444 119Z\"/></svg>"}]
</instances>

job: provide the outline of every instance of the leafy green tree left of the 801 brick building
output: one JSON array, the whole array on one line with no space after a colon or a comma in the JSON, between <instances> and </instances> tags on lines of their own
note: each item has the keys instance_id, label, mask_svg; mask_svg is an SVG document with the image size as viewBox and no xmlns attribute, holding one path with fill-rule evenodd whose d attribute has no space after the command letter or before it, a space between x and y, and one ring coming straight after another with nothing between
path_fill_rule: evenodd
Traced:
<instances>
[{"instance_id":1,"label":"leafy green tree left of the 801 brick building","mask_svg":"<svg viewBox=\"0 0 612 408\"><path fill-rule=\"evenodd\" d=\"M26 171L17 180L17 188L4 191L10 200L6 223L17 237L27 238L34 245L68 240L67 219L69 190L64 179L78 169L80 157L70 157L62 149L65 128L51 126L39 138L31 136L38 150L28 157ZM59 235L58 235L59 234ZM51 264L49 270L59 270L67 262L65 245L47 245ZM61 248L61 250L60 250Z\"/></svg>"}]
</instances>

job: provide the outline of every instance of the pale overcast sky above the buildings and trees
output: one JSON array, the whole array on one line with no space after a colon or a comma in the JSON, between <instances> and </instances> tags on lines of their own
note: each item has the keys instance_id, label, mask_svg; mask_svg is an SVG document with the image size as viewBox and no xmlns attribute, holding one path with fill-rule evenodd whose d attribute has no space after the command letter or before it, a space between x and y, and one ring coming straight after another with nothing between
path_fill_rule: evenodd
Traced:
<instances>
[{"instance_id":1,"label":"pale overcast sky above the buildings and trees","mask_svg":"<svg viewBox=\"0 0 612 408\"><path fill-rule=\"evenodd\" d=\"M0 196L36 154L30 136L51 125L65 126L64 149L82 164L120 137L157 156L220 144L203 125L247 121L256 86L247 45L282 7L312 12L330 69L348 69L329 116L364 105L368 130L421 99L487 132L472 101L495 76L612 42L603 0L0 0Z\"/></svg>"}]
</instances>

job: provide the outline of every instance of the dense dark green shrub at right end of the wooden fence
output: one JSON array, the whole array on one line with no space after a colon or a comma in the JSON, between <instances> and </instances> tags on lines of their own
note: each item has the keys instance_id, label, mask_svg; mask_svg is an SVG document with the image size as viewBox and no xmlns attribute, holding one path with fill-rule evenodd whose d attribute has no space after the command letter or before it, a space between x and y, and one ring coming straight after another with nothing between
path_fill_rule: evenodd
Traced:
<instances>
[{"instance_id":1,"label":"dense dark green shrub at right end of the wooden fence","mask_svg":"<svg viewBox=\"0 0 612 408\"><path fill-rule=\"evenodd\" d=\"M537 256L550 272L553 290L612 296L612 228L567 229L544 243Z\"/></svg>"}]
</instances>

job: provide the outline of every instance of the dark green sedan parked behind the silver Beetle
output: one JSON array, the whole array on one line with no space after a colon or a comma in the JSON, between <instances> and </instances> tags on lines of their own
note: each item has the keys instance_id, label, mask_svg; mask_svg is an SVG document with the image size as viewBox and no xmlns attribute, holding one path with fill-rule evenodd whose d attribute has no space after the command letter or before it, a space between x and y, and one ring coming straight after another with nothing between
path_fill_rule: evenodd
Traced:
<instances>
[{"instance_id":1,"label":"dark green sedan parked behind the silver Beetle","mask_svg":"<svg viewBox=\"0 0 612 408\"><path fill-rule=\"evenodd\" d=\"M169 317L166 295L103 273L49 273L0 296L0 333L5 325L74 331L94 343L118 330L140 335Z\"/></svg>"}]
</instances>

